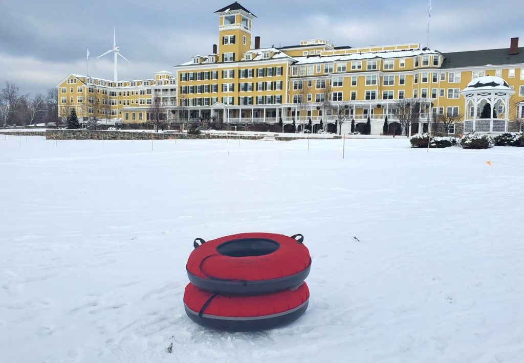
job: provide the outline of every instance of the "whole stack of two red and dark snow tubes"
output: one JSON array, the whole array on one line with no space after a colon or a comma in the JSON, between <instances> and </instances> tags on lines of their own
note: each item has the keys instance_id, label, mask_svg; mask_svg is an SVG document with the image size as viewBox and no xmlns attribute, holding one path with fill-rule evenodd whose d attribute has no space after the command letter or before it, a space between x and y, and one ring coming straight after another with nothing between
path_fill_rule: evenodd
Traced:
<instances>
[{"instance_id":1,"label":"whole stack of two red and dark snow tubes","mask_svg":"<svg viewBox=\"0 0 524 363\"><path fill-rule=\"evenodd\" d=\"M288 324L308 308L311 268L300 234L242 233L196 238L186 270L185 312L194 322L231 332Z\"/></svg>"}]
</instances>

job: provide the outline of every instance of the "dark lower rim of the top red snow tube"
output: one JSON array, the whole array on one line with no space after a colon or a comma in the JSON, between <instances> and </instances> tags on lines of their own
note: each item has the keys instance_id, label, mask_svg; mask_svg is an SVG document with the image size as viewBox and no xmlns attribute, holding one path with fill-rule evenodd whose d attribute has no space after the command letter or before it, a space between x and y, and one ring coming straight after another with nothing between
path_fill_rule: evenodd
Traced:
<instances>
[{"instance_id":1,"label":"dark lower rim of the top red snow tube","mask_svg":"<svg viewBox=\"0 0 524 363\"><path fill-rule=\"evenodd\" d=\"M270 280L215 280L195 276L186 268L189 281L201 290L224 295L258 295L291 289L304 282L311 270L311 259L304 270Z\"/></svg>"}]
</instances>

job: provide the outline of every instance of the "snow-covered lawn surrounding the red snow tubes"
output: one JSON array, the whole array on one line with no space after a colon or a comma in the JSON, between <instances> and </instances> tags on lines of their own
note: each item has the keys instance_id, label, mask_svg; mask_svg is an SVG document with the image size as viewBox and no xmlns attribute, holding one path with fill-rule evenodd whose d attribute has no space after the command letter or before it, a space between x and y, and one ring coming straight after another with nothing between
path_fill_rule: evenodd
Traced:
<instances>
[{"instance_id":1,"label":"snow-covered lawn surrounding the red snow tubes","mask_svg":"<svg viewBox=\"0 0 524 363\"><path fill-rule=\"evenodd\" d=\"M524 150L342 142L0 136L0 361L524 361L524 168L486 164ZM305 236L308 311L192 323L193 239L263 231Z\"/></svg>"}]
</instances>

